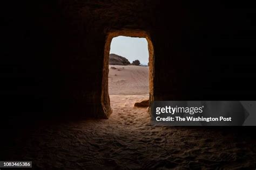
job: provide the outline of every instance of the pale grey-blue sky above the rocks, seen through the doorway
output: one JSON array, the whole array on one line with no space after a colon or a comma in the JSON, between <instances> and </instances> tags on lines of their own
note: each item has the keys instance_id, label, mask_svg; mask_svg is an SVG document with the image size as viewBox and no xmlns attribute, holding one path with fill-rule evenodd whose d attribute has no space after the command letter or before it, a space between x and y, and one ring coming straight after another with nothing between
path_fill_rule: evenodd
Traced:
<instances>
[{"instance_id":1,"label":"pale grey-blue sky above the rocks, seen through the doorway","mask_svg":"<svg viewBox=\"0 0 256 170\"><path fill-rule=\"evenodd\" d=\"M114 37L110 45L111 53L124 56L131 63L134 60L139 60L141 64L147 65L149 62L149 49L145 38Z\"/></svg>"}]
</instances>

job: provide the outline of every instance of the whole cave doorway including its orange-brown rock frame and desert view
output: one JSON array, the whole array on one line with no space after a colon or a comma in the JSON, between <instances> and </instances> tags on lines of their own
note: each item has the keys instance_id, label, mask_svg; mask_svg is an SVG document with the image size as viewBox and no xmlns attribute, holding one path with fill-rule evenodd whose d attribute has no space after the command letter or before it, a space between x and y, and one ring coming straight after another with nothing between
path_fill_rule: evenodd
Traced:
<instances>
[{"instance_id":1,"label":"whole cave doorway including its orange-brown rock frame and desert view","mask_svg":"<svg viewBox=\"0 0 256 170\"><path fill-rule=\"evenodd\" d=\"M104 53L102 107L106 118L112 113L110 102L125 106L127 101L122 101L123 98L149 100L150 105L154 98L154 59L149 34L145 31L109 33Z\"/></svg>"}]
</instances>

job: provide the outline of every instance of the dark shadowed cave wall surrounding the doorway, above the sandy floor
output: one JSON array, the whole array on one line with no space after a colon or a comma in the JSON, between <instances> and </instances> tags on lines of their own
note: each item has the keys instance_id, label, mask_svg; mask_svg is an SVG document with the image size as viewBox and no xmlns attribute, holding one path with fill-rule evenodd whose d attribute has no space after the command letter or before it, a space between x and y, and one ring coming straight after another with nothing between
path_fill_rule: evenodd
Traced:
<instances>
[{"instance_id":1,"label":"dark shadowed cave wall surrounding the doorway, above the sandy floor","mask_svg":"<svg viewBox=\"0 0 256 170\"><path fill-rule=\"evenodd\" d=\"M134 30L145 31L154 49L151 101L255 100L256 10L230 5L5 2L2 109L22 116L107 118L107 38Z\"/></svg>"}]
</instances>

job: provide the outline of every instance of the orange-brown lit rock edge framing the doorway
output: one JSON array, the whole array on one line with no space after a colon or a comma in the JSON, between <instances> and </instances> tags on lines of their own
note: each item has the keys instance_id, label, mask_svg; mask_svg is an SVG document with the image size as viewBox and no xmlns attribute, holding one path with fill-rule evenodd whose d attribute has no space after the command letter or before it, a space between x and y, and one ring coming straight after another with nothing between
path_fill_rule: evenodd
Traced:
<instances>
[{"instance_id":1,"label":"orange-brown lit rock edge framing the doorway","mask_svg":"<svg viewBox=\"0 0 256 170\"><path fill-rule=\"evenodd\" d=\"M101 104L104 111L104 117L109 118L112 114L109 97L109 52L110 44L114 37L126 36L126 37L138 37L146 38L147 46L149 49L149 86L150 86L150 104L154 101L154 49L151 42L150 34L146 31L141 30L122 30L109 32L106 36L105 49L104 49L104 62L103 62L103 80L102 80L102 96Z\"/></svg>"}]
</instances>

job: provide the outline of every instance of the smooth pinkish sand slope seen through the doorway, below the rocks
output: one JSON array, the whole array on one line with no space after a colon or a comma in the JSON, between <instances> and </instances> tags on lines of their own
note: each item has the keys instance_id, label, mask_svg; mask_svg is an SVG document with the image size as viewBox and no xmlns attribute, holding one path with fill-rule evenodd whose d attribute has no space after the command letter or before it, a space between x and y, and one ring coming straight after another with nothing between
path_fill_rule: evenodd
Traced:
<instances>
[{"instance_id":1,"label":"smooth pinkish sand slope seen through the doorway, below the rocks","mask_svg":"<svg viewBox=\"0 0 256 170\"><path fill-rule=\"evenodd\" d=\"M109 94L149 94L149 67L110 65Z\"/></svg>"}]
</instances>

